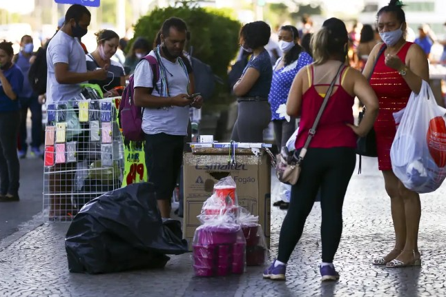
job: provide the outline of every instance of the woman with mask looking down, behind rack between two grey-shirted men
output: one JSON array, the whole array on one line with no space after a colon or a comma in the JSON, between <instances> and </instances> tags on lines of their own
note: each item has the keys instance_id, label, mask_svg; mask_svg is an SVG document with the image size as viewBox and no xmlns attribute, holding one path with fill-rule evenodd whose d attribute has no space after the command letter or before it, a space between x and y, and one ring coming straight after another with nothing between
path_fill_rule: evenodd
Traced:
<instances>
[{"instance_id":1,"label":"woman with mask looking down, behind rack between two grey-shirted men","mask_svg":"<svg viewBox=\"0 0 446 297\"><path fill-rule=\"evenodd\" d=\"M104 96L118 96L113 88L125 86L124 68L119 62L111 59L119 46L119 36L112 30L100 30L96 34L97 48L90 54L86 54L87 70L94 71L98 68L107 70L107 78L101 81L90 80L104 90Z\"/></svg>"}]
</instances>

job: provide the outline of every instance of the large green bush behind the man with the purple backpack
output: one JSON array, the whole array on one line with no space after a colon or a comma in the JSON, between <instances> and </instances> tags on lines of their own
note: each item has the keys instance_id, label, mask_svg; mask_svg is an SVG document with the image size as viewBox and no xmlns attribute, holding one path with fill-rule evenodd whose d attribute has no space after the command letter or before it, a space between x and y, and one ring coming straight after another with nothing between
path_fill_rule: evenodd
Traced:
<instances>
[{"instance_id":1,"label":"large green bush behind the man with the purple backpack","mask_svg":"<svg viewBox=\"0 0 446 297\"><path fill-rule=\"evenodd\" d=\"M193 47L193 56L211 65L215 74L226 78L228 65L237 53L241 27L232 14L231 10L204 9L191 5L156 8L138 20L134 39L145 37L152 44L162 23L170 17L179 17L186 22L191 32L191 41L187 47Z\"/></svg>"}]
</instances>

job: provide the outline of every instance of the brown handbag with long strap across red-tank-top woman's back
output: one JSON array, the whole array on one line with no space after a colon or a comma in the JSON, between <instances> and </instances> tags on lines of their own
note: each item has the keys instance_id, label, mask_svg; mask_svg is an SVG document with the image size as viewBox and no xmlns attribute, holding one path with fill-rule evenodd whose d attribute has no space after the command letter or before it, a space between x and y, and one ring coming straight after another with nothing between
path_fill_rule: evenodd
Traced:
<instances>
[{"instance_id":1,"label":"brown handbag with long strap across red-tank-top woman's back","mask_svg":"<svg viewBox=\"0 0 446 297\"><path fill-rule=\"evenodd\" d=\"M311 130L309 130L307 141L305 142L304 147L302 147L302 150L300 150L300 154L296 155L296 152L290 153L288 151L288 147L286 146L282 147L282 149L280 150L277 165L275 167L275 174L277 175L281 183L295 185L295 183L298 182L302 161L304 160L305 154L307 154L311 139L313 138L314 134L316 134L316 127L318 127L322 112L324 112L324 109L327 106L328 100L331 96L331 92L333 92L333 87L336 83L336 80L338 79L342 68L344 68L344 63L340 65L336 76L334 77L333 81L331 81L329 90L327 90L327 94L325 94L324 101L322 101L322 105L320 106L318 115L314 120L313 127L311 127Z\"/></svg>"}]
</instances>

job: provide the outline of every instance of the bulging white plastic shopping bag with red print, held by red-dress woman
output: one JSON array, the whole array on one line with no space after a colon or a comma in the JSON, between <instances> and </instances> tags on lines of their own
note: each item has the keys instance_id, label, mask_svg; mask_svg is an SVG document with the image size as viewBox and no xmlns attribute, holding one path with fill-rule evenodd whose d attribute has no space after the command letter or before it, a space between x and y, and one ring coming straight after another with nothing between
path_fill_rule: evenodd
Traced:
<instances>
[{"instance_id":1,"label":"bulging white plastic shopping bag with red print, held by red-dress woman","mask_svg":"<svg viewBox=\"0 0 446 297\"><path fill-rule=\"evenodd\" d=\"M410 95L390 150L392 170L409 190L434 192L445 180L445 114L426 81ZM394 114L397 125L399 116Z\"/></svg>"}]
</instances>

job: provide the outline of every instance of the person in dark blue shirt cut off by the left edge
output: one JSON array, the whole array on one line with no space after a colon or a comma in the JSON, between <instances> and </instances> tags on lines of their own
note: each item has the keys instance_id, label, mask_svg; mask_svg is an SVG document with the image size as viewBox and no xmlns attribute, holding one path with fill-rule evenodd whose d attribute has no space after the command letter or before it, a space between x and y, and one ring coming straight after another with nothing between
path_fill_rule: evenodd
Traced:
<instances>
[{"instance_id":1,"label":"person in dark blue shirt cut off by the left edge","mask_svg":"<svg viewBox=\"0 0 446 297\"><path fill-rule=\"evenodd\" d=\"M23 74L17 65L12 63L12 57L12 43L0 42L0 202L19 201L18 94L23 87Z\"/></svg>"}]
</instances>

